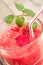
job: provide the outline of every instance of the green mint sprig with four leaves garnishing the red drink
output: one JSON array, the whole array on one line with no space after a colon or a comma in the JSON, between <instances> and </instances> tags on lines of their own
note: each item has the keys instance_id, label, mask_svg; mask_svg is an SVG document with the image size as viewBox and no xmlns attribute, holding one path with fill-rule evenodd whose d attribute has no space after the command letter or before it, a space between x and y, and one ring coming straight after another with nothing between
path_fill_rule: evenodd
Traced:
<instances>
[{"instance_id":1,"label":"green mint sprig with four leaves garnishing the red drink","mask_svg":"<svg viewBox=\"0 0 43 65\"><path fill-rule=\"evenodd\" d=\"M32 16L32 17L33 17L33 16L35 15L35 13L34 13L32 10L29 10L29 9L24 8L24 5L21 4L21 3L15 3L15 6L16 6L16 8L17 8L19 11L22 11L23 13L26 13L28 16ZM24 15L15 16L15 17L16 17L16 24L17 24L18 26L20 26L20 27L23 25L24 20L25 20L23 16L24 16ZM13 19L14 19L14 15L8 15L8 16L6 16L6 17L4 18L4 21L5 21L7 24L10 24L10 23L12 23ZM33 28L34 28L34 26L33 26Z\"/></svg>"}]
</instances>

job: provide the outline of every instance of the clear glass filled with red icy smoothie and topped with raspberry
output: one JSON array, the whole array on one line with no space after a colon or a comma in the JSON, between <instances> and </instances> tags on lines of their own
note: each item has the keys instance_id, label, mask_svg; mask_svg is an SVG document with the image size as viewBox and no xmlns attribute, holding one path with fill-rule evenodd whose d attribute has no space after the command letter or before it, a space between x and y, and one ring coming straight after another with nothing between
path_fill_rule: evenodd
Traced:
<instances>
[{"instance_id":1,"label":"clear glass filled with red icy smoothie and topped with raspberry","mask_svg":"<svg viewBox=\"0 0 43 65\"><path fill-rule=\"evenodd\" d=\"M34 65L41 58L42 22L39 19L34 21L32 37L27 24L32 17L24 17L26 20L22 27L10 26L0 36L0 55L6 65Z\"/></svg>"}]
</instances>

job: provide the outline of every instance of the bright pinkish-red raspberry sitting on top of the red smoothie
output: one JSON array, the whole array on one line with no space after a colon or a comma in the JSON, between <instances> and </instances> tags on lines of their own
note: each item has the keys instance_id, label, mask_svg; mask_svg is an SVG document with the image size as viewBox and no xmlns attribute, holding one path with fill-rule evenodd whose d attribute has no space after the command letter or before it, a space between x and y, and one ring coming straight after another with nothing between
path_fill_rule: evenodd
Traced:
<instances>
[{"instance_id":1,"label":"bright pinkish-red raspberry sitting on top of the red smoothie","mask_svg":"<svg viewBox=\"0 0 43 65\"><path fill-rule=\"evenodd\" d=\"M30 42L29 35L26 35L26 34L22 34L22 35L18 36L16 38L16 40L17 40L18 46L23 46L23 45L26 45Z\"/></svg>"}]
</instances>

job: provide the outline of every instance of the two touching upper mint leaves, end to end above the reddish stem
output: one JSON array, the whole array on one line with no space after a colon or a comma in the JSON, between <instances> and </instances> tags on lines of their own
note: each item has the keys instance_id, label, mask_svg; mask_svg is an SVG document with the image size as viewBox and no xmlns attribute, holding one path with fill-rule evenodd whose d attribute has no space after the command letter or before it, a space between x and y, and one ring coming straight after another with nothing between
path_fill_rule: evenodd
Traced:
<instances>
[{"instance_id":1,"label":"two touching upper mint leaves, end to end above the reddish stem","mask_svg":"<svg viewBox=\"0 0 43 65\"><path fill-rule=\"evenodd\" d=\"M16 8L19 10L19 11L22 11L23 13L26 13L28 16L35 16L35 13L30 10L30 9L26 9L24 8L24 5L21 4L21 3L15 3L15 6Z\"/></svg>"}]
</instances>

